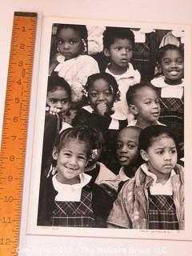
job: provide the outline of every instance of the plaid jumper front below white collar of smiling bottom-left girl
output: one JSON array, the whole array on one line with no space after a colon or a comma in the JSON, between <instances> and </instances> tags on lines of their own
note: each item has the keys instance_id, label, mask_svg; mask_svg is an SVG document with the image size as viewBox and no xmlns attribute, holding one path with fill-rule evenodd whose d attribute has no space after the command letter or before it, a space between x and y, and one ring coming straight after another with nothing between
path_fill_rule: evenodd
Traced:
<instances>
[{"instance_id":1,"label":"plaid jumper front below white collar of smiling bottom-left girl","mask_svg":"<svg viewBox=\"0 0 192 256\"><path fill-rule=\"evenodd\" d=\"M55 202L52 226L89 227L94 222L92 193L82 189L80 202Z\"/></svg>"}]
</instances>

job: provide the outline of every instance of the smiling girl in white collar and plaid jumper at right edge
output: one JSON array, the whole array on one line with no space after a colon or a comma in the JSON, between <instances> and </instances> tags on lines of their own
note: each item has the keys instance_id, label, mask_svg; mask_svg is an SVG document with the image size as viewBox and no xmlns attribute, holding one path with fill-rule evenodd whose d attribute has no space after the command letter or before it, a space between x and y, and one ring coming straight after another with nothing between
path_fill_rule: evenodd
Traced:
<instances>
[{"instance_id":1,"label":"smiling girl in white collar and plaid jumper at right edge","mask_svg":"<svg viewBox=\"0 0 192 256\"><path fill-rule=\"evenodd\" d=\"M179 142L184 136L184 50L182 46L166 45L158 53L158 67L162 75L151 83L160 91L160 122L175 131Z\"/></svg>"}]
</instances>

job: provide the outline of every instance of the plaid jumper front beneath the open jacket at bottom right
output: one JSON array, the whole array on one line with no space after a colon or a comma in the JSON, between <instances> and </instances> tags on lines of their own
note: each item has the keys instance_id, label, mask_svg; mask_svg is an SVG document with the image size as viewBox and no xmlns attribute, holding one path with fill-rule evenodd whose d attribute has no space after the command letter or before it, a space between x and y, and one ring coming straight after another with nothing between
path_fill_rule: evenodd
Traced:
<instances>
[{"instance_id":1,"label":"plaid jumper front beneath the open jacket at bottom right","mask_svg":"<svg viewBox=\"0 0 192 256\"><path fill-rule=\"evenodd\" d=\"M170 195L149 195L150 230L178 230L178 218L173 197Z\"/></svg>"}]
</instances>

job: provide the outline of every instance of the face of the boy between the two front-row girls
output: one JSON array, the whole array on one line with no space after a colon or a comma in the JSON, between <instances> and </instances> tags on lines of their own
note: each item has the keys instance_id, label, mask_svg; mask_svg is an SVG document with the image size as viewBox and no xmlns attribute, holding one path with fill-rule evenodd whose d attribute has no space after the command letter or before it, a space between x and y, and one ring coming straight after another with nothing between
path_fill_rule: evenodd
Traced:
<instances>
[{"instance_id":1,"label":"face of the boy between the two front-row girls","mask_svg":"<svg viewBox=\"0 0 192 256\"><path fill-rule=\"evenodd\" d=\"M126 128L119 132L117 158L121 166L129 166L138 158L138 130Z\"/></svg>"}]
</instances>

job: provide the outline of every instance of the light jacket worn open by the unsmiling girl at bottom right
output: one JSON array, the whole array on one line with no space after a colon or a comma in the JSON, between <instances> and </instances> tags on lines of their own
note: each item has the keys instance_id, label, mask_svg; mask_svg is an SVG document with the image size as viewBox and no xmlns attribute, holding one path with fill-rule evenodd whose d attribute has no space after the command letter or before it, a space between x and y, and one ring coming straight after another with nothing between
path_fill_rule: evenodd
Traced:
<instances>
[{"instance_id":1,"label":"light jacket worn open by the unsmiling girl at bottom right","mask_svg":"<svg viewBox=\"0 0 192 256\"><path fill-rule=\"evenodd\" d=\"M176 165L174 171L176 174L171 176L173 201L178 222L178 230L184 230L183 167ZM131 178L122 186L122 190L118 193L118 198L114 201L114 206L107 222L113 226L128 229L153 228L150 223L154 218L154 214L152 214L151 211L153 210L153 207L149 211L149 205L151 206L152 202L157 204L157 200L150 198L148 193L148 189L153 181L154 179L146 175L142 170L142 166L140 166L136 171L134 178ZM168 201L171 205L170 198ZM174 206L172 207L173 210ZM156 227L159 228L158 226L155 226L155 228ZM163 226L163 228L169 228L169 226Z\"/></svg>"}]
</instances>

